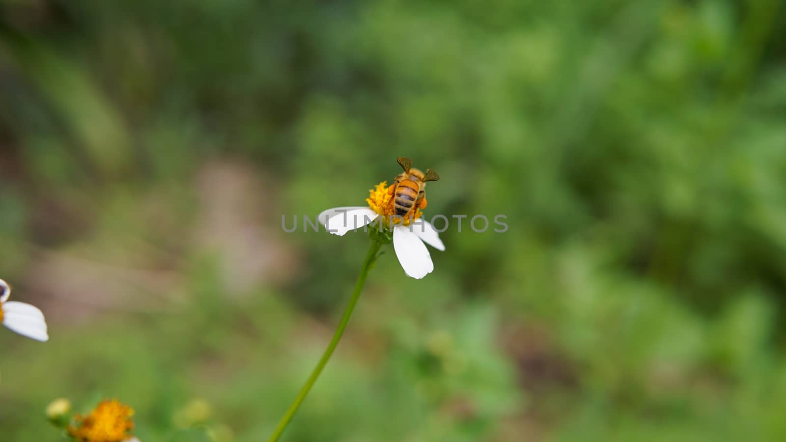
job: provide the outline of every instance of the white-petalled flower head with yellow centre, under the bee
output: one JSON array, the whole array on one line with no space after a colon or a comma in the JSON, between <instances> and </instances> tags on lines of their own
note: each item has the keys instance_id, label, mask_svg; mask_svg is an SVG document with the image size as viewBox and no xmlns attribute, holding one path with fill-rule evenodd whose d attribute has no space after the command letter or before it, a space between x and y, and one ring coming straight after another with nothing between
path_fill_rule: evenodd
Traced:
<instances>
[{"instance_id":1,"label":"white-petalled flower head with yellow centre, under the bee","mask_svg":"<svg viewBox=\"0 0 786 442\"><path fill-rule=\"evenodd\" d=\"M395 216L387 182L380 182L370 193L365 200L369 207L330 208L319 214L319 222L331 234L339 236L375 222L382 223L384 228L393 232L393 249L407 276L421 279L434 271L432 256L423 243L440 251L445 250L445 245L432 223L421 218L419 208L408 218Z\"/></svg>"}]
</instances>

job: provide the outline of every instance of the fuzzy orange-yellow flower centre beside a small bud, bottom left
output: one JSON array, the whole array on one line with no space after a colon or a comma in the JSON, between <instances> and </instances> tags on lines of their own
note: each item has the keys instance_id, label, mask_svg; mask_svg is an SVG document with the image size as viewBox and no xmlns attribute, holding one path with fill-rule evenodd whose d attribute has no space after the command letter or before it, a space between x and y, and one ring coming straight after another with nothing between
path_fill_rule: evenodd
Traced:
<instances>
[{"instance_id":1,"label":"fuzzy orange-yellow flower centre beside a small bud, bottom left","mask_svg":"<svg viewBox=\"0 0 786 442\"><path fill-rule=\"evenodd\" d=\"M87 416L77 414L68 434L79 442L123 442L134 429L134 409L117 400L102 400Z\"/></svg>"}]
</instances>

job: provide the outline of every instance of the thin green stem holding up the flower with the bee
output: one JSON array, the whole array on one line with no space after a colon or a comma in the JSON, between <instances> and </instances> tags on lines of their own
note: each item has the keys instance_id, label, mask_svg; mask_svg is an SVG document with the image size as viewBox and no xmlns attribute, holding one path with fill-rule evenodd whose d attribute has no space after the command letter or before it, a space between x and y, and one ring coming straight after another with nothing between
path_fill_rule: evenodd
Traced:
<instances>
[{"instance_id":1,"label":"thin green stem holding up the flower with the bee","mask_svg":"<svg viewBox=\"0 0 786 442\"><path fill-rule=\"evenodd\" d=\"M355 304L358 304L358 298L360 297L360 293L363 290L363 285L365 285L365 278L368 278L369 271L371 271L371 267L373 267L373 263L376 260L376 253L380 251L382 244L383 243L380 241L371 241L371 248L369 249L369 253L365 256L363 267L360 269L360 274L358 275L358 281L354 283L352 297L349 300L349 304L347 304L347 309L344 310L343 316L341 317L341 322L339 322L339 326L336 328L336 333L333 333L333 337L330 340L330 344L328 344L328 348L325 349L325 353L322 354L321 359L319 359L319 363L317 363L317 366L314 367L314 371L311 372L311 375L308 377L306 384L303 385L302 389L300 389L300 392L295 398L295 401L292 402L292 405L289 406L289 409L287 410L286 414L284 414L284 417L281 418L280 422L278 422L276 431L274 431L273 436L270 436L268 442L275 442L278 440L284 433L284 430L287 429L289 421L292 421L292 417L297 412L300 404L303 403L303 400L306 399L306 396L308 395L308 392L310 392L311 387L314 386L314 382L317 381L319 374L321 374L322 369L325 368L325 365L328 363L330 356L333 354L333 351L336 350L336 346L339 344L339 341L341 341L343 330L347 328L349 319L352 316L354 306Z\"/></svg>"}]
</instances>

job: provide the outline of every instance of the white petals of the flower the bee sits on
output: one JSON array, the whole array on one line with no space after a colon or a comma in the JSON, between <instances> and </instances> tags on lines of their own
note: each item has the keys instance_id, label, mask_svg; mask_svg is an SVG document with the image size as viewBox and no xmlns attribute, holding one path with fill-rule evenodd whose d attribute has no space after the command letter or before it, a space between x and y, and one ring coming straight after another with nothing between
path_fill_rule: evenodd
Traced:
<instances>
[{"instance_id":1,"label":"white petals of the flower the bee sits on","mask_svg":"<svg viewBox=\"0 0 786 442\"><path fill-rule=\"evenodd\" d=\"M350 230L361 229L373 223L379 216L368 207L337 207L321 212L319 222L330 233L343 236ZM425 219L416 219L409 227L400 224L393 227L393 249L407 276L421 279L434 271L432 256L424 242L437 250L445 251L439 233L432 223Z\"/></svg>"}]
</instances>

